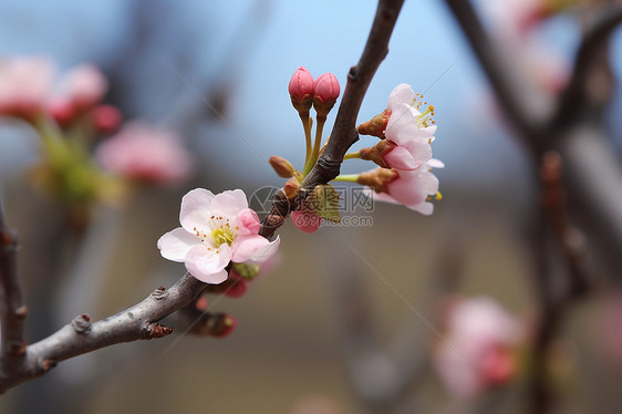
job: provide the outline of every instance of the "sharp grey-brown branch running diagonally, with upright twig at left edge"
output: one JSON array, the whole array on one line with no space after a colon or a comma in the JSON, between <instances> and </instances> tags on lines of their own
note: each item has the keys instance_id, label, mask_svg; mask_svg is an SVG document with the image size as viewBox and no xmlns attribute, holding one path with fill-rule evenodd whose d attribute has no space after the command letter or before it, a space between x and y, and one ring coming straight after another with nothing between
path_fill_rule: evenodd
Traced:
<instances>
[{"instance_id":1,"label":"sharp grey-brown branch running diagonally, with upright twig at left edge","mask_svg":"<svg viewBox=\"0 0 622 414\"><path fill-rule=\"evenodd\" d=\"M325 184L339 175L341 162L348 148L359 138L356 116L372 77L388 51L388 39L402 8L403 0L380 0L374 23L359 64L350 70L348 84L338 112L332 138L324 153L302 183L301 203L319 184ZM261 224L260 235L271 237L291 211L290 201L282 192L276 195L271 213ZM17 340L20 355L18 363L3 346L0 359L0 393L52 369L58 362L122 342L132 342L162 338L173 330L159 323L162 319L188 306L205 290L206 284L186 273L168 290L160 287L141 303L116 315L91 323L87 314L76 317L52 335L25 346L23 341L23 321L25 308L21 304L21 294L17 283L15 248L17 240L7 230L0 214L2 248L0 266L4 294L2 308L2 341L13 344ZM4 306L6 304L6 306ZM21 318L21 319L20 319ZM206 322L207 323L207 322ZM20 339L22 339L20 341Z\"/></svg>"}]
</instances>

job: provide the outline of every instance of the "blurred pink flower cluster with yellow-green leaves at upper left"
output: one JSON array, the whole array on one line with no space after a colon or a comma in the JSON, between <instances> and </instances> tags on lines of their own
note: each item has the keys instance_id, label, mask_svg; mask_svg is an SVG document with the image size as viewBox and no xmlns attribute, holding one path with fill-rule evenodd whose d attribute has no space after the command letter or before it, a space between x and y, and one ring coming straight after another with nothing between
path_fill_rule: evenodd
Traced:
<instances>
[{"instance_id":1,"label":"blurred pink flower cluster with yellow-green leaves at upper left","mask_svg":"<svg viewBox=\"0 0 622 414\"><path fill-rule=\"evenodd\" d=\"M94 64L59 75L43 56L0 60L0 117L30 124L42 159L30 177L74 213L116 203L131 183L187 178L191 158L172 132L133 121L104 102L108 82Z\"/></svg>"}]
</instances>

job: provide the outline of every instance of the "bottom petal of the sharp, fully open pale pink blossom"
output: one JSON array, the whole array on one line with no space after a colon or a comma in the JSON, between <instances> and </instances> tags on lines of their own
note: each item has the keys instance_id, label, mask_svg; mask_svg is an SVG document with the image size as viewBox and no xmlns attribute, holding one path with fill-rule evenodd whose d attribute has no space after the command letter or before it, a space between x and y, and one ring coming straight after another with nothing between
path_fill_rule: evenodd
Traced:
<instances>
[{"instance_id":1,"label":"bottom petal of the sharp, fully open pale pink blossom","mask_svg":"<svg viewBox=\"0 0 622 414\"><path fill-rule=\"evenodd\" d=\"M231 261L231 248L221 245L217 249L208 250L207 246L193 247L186 256L186 269L198 280L218 284L227 280L225 268Z\"/></svg>"}]
</instances>

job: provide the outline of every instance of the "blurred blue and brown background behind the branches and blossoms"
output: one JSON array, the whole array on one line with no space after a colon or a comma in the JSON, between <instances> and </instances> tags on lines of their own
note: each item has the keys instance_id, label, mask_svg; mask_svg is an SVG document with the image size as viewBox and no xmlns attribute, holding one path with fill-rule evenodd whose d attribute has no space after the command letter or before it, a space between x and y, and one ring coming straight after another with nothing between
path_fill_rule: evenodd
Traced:
<instances>
[{"instance_id":1,"label":"blurred blue and brown background behind the branches and blossoms","mask_svg":"<svg viewBox=\"0 0 622 414\"><path fill-rule=\"evenodd\" d=\"M473 3L487 30L516 48L512 56L523 76L548 95L568 81L585 10L598 7L570 2L516 34L502 31L510 27L504 19L518 15L511 12L515 1ZM287 92L289 79L304 65L313 76L334 73L343 91L375 8L374 1L1 1L2 59L46 55L60 73L93 63L110 84L106 104L118 107L124 120L175 131L193 156L187 179L133 186L123 203L94 208L75 237L62 204L32 185L31 172L41 162L37 134L23 123L2 123L0 179L10 225L22 241L29 340L83 312L95 320L114 314L157 286L173 284L185 269L164 260L156 241L178 226L179 201L189 189L241 188L250 195L262 186L280 187L284 180L268 164L271 155L301 168L304 138ZM615 80L621 42L614 32ZM404 4L359 121L382 112L403 82L436 107L433 151L446 167L435 170L444 198L433 216L375 204L365 214L373 226L307 235L288 221L272 269L249 283L243 298L210 297L210 309L238 320L230 337L177 332L83 355L9 391L0 411L366 412L372 408L357 399L353 376L391 377L383 371L388 366L383 352L398 349L421 363L395 397L400 407L370 412L526 412L525 356L517 358L509 385L468 403L444 384L433 361L443 342L437 329L444 331L445 303L456 300L448 298L493 298L521 321L525 343L532 338L539 301L532 251L541 225L538 165L505 121L444 2ZM612 93L602 122L621 148L622 100L618 89ZM361 137L355 147L374 139ZM371 167L348 161L343 172ZM335 281L341 273L353 277ZM362 312L377 338L372 352L377 370L351 366L353 339L342 313L356 308L343 306L351 300L348 283L363 292L362 307L369 307ZM611 322L603 309L616 303L608 291L577 303L551 345L549 376L559 412L614 412L620 404L612 379L620 377L622 358L602 352L610 339L601 325ZM604 330L619 329L618 321Z\"/></svg>"}]
</instances>

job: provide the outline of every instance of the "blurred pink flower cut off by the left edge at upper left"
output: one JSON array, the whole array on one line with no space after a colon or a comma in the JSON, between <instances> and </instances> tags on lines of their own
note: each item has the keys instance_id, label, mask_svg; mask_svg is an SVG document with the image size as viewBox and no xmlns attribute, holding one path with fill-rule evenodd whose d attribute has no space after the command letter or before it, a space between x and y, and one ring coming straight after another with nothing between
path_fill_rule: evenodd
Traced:
<instances>
[{"instance_id":1,"label":"blurred pink flower cut off by the left edge at upper left","mask_svg":"<svg viewBox=\"0 0 622 414\"><path fill-rule=\"evenodd\" d=\"M50 99L54 68L45 58L0 60L0 116L32 121Z\"/></svg>"}]
</instances>

